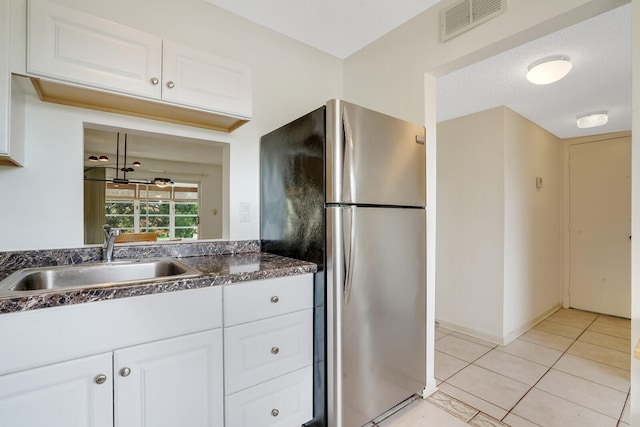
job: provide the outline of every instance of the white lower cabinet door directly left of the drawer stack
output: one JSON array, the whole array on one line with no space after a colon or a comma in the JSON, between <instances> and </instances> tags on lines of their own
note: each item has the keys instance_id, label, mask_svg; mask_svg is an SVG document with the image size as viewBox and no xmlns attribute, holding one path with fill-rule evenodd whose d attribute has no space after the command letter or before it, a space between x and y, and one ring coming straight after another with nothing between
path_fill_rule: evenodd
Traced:
<instances>
[{"instance_id":1,"label":"white lower cabinet door directly left of the drawer stack","mask_svg":"<svg viewBox=\"0 0 640 427\"><path fill-rule=\"evenodd\" d=\"M221 427L222 330L114 352L115 426Z\"/></svg>"}]
</instances>

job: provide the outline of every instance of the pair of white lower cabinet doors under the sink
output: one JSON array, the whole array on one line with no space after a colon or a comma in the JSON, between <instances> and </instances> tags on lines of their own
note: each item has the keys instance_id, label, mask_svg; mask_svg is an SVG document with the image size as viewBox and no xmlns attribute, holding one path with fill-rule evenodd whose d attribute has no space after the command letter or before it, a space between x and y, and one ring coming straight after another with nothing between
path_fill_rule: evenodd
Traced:
<instances>
[{"instance_id":1,"label":"pair of white lower cabinet doors under the sink","mask_svg":"<svg viewBox=\"0 0 640 427\"><path fill-rule=\"evenodd\" d=\"M0 376L3 427L221 427L222 330Z\"/></svg>"}]
</instances>

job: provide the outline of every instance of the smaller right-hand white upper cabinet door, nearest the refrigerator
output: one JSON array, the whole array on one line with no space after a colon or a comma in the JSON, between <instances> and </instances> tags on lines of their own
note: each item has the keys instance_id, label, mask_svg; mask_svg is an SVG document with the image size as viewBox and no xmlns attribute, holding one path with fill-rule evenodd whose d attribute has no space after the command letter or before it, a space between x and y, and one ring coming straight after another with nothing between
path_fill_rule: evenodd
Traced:
<instances>
[{"instance_id":1,"label":"smaller right-hand white upper cabinet door, nearest the refrigerator","mask_svg":"<svg viewBox=\"0 0 640 427\"><path fill-rule=\"evenodd\" d=\"M162 99L251 117L251 68L165 40Z\"/></svg>"}]
</instances>

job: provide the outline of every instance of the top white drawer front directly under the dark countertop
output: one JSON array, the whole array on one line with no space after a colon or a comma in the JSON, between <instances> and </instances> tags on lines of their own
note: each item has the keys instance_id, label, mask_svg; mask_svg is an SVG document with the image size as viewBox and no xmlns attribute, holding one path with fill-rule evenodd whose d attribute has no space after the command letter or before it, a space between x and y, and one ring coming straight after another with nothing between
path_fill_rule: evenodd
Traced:
<instances>
[{"instance_id":1,"label":"top white drawer front directly under the dark countertop","mask_svg":"<svg viewBox=\"0 0 640 427\"><path fill-rule=\"evenodd\" d=\"M313 275L225 285L223 292L224 324L233 326L313 308Z\"/></svg>"}]
</instances>

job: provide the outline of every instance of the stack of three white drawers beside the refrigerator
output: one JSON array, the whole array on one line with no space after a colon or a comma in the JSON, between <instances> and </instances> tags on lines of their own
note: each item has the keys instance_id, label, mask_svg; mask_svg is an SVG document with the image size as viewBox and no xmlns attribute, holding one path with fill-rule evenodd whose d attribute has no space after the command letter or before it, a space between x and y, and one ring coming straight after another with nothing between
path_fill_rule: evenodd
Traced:
<instances>
[{"instance_id":1,"label":"stack of three white drawers beside the refrigerator","mask_svg":"<svg viewBox=\"0 0 640 427\"><path fill-rule=\"evenodd\" d=\"M313 416L312 275L225 286L225 427Z\"/></svg>"}]
</instances>

